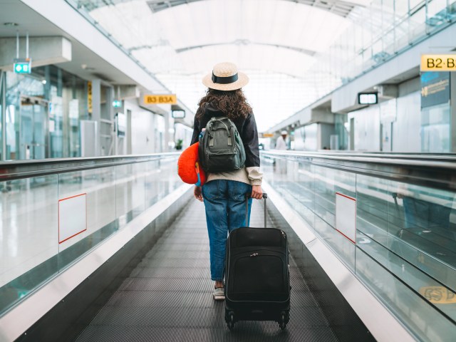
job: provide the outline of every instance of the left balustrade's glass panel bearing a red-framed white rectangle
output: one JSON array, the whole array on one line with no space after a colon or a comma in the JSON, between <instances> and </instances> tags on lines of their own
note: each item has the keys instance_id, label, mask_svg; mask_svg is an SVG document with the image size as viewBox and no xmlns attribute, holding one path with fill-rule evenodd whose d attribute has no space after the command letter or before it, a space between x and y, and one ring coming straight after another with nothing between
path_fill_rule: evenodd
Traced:
<instances>
[{"instance_id":1,"label":"left balustrade's glass panel bearing a red-framed white rectangle","mask_svg":"<svg viewBox=\"0 0 456 342\"><path fill-rule=\"evenodd\" d=\"M58 267L63 269L118 229L115 167L58 175Z\"/></svg>"}]
</instances>

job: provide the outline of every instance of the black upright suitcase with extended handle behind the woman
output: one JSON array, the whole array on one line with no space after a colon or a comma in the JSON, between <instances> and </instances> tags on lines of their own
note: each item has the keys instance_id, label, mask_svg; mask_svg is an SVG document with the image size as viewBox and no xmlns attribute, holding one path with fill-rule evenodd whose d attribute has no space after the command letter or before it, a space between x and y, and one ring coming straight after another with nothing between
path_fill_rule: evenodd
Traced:
<instances>
[{"instance_id":1,"label":"black upright suitcase with extended handle behind the woman","mask_svg":"<svg viewBox=\"0 0 456 342\"><path fill-rule=\"evenodd\" d=\"M225 321L277 321L286 328L290 312L289 250L281 229L241 227L229 233L225 264ZM246 222L247 199L246 199Z\"/></svg>"}]
</instances>

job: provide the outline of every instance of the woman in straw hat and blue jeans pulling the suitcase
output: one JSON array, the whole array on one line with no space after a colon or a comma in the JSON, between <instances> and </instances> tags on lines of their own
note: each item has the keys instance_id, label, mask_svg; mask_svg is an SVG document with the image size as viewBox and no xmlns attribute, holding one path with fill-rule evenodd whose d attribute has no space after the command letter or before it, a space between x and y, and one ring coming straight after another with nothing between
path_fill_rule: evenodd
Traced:
<instances>
[{"instance_id":1,"label":"woman in straw hat and blue jeans pulling the suitcase","mask_svg":"<svg viewBox=\"0 0 456 342\"><path fill-rule=\"evenodd\" d=\"M245 195L261 199L259 172L258 131L252 108L247 103L242 87L249 82L244 73L239 73L233 63L219 63L212 74L202 80L207 94L199 100L195 115L192 144L198 141L199 133L213 116L226 116L236 125L244 145L245 167L229 172L209 173L202 187L195 187L194 195L203 201L206 209L207 232L209 233L209 257L211 279L214 284L214 299L224 299L223 275L227 235L233 229L246 226ZM249 215L252 199L249 199Z\"/></svg>"}]
</instances>

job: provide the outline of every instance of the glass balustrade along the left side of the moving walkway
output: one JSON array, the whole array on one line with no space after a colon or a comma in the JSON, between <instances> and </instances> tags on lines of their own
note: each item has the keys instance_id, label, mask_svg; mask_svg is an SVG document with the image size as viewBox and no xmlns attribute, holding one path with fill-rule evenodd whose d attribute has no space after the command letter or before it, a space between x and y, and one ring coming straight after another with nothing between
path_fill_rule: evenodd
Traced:
<instances>
[{"instance_id":1,"label":"glass balustrade along the left side of the moving walkway","mask_svg":"<svg viewBox=\"0 0 456 342\"><path fill-rule=\"evenodd\" d=\"M177 157L0 163L0 314L182 185Z\"/></svg>"}]
</instances>

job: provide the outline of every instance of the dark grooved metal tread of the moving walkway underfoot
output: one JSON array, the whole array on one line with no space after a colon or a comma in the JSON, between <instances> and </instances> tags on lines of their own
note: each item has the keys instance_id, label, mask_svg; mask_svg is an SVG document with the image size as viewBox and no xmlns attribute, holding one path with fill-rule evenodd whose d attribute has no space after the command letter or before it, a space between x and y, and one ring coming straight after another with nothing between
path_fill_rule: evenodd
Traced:
<instances>
[{"instance_id":1,"label":"dark grooved metal tread of the moving walkway underfoot","mask_svg":"<svg viewBox=\"0 0 456 342\"><path fill-rule=\"evenodd\" d=\"M212 299L202 219L204 205L190 202L76 341L337 341L292 259L286 330L273 321L241 321L229 331L224 302ZM263 207L254 201L252 225L262 222Z\"/></svg>"}]
</instances>

